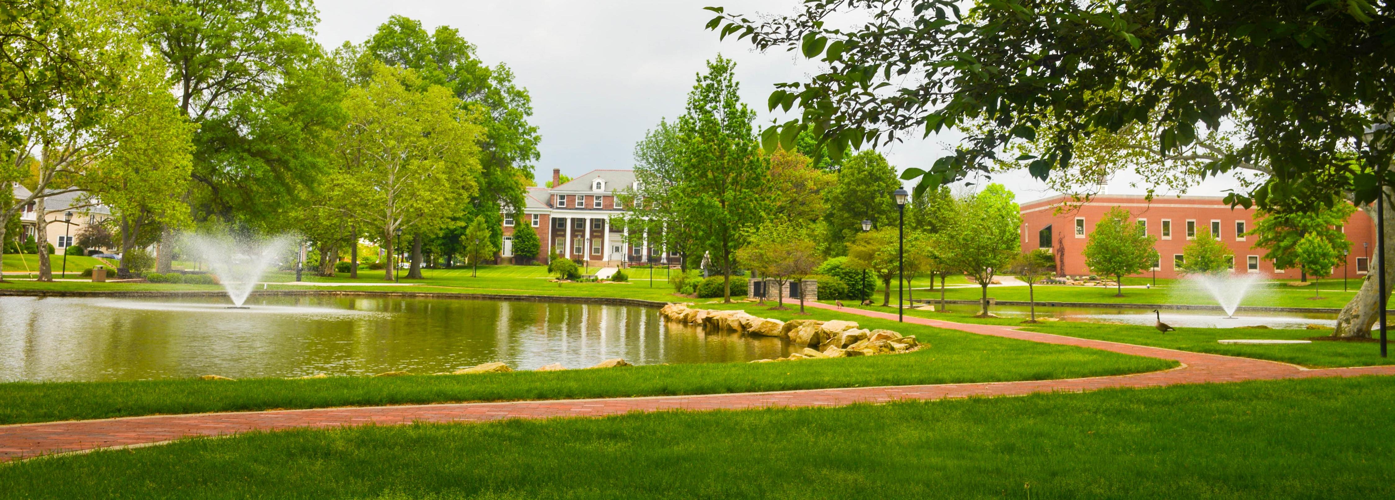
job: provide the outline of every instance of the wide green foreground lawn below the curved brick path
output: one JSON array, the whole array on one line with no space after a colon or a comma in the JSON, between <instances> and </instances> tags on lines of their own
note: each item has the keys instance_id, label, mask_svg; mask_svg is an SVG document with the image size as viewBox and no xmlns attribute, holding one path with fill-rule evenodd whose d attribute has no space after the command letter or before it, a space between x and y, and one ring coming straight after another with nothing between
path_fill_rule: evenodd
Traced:
<instances>
[{"instance_id":1,"label":"wide green foreground lawn below the curved brick path","mask_svg":"<svg viewBox=\"0 0 1395 500\"><path fill-rule=\"evenodd\" d=\"M0 467L20 499L1382 499L1395 384L363 426Z\"/></svg>"}]
</instances>

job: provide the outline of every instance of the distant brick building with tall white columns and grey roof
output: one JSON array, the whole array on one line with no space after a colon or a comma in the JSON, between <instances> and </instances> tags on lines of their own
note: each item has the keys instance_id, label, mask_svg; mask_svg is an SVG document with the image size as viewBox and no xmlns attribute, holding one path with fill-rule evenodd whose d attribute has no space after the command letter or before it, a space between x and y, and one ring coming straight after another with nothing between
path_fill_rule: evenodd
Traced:
<instances>
[{"instance_id":1,"label":"distant brick building with tall white columns and grey roof","mask_svg":"<svg viewBox=\"0 0 1395 500\"><path fill-rule=\"evenodd\" d=\"M552 249L572 260L589 260L590 266L618 266L624 262L663 262L668 258L661 247L646 245L636 238L629 244L626 234L610 223L610 217L624 213L615 205L615 192L636 187L633 170L591 170L561 184L561 169L552 169L551 188L527 188L523 214L504 214L504 262L513 262L513 231L531 228L537 233L537 262L547 263ZM515 219L519 217L519 219ZM657 245L657 242L656 242Z\"/></svg>"}]
</instances>

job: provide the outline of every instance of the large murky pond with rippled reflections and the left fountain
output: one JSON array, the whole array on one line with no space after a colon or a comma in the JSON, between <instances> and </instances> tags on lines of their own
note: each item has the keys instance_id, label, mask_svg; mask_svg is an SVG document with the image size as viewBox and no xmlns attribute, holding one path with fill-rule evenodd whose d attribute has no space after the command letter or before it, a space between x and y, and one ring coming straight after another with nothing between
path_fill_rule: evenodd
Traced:
<instances>
[{"instance_id":1,"label":"large murky pond with rippled reflections and the left fountain","mask_svg":"<svg viewBox=\"0 0 1395 500\"><path fill-rule=\"evenodd\" d=\"M704 334L642 306L382 297L0 297L0 382L513 369L607 358L745 362L780 338Z\"/></svg>"}]
</instances>

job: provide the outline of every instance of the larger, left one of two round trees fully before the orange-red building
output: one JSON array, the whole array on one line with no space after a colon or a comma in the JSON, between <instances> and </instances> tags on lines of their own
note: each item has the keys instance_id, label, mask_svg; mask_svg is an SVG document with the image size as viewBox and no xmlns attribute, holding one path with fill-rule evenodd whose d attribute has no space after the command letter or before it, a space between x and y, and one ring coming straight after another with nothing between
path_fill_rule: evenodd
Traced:
<instances>
[{"instance_id":1,"label":"larger, left one of two round trees fully before the orange-red building","mask_svg":"<svg viewBox=\"0 0 1395 500\"><path fill-rule=\"evenodd\" d=\"M1152 267L1154 245L1158 238L1147 234L1133 214L1122 206L1105 212L1085 241L1085 267L1095 274L1113 276L1116 294L1124 297L1124 274L1141 273Z\"/></svg>"}]
</instances>

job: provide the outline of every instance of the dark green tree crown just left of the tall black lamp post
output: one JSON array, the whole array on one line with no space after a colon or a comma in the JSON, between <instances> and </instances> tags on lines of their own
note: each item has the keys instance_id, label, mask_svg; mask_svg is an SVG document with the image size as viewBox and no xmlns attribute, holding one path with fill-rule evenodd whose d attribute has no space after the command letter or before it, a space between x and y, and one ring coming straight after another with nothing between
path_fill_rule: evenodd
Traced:
<instances>
[{"instance_id":1,"label":"dark green tree crown just left of the tall black lamp post","mask_svg":"<svg viewBox=\"0 0 1395 500\"><path fill-rule=\"evenodd\" d=\"M891 192L900 187L896 167L880 153L864 150L845 159L837 182L824 191L826 252L845 253L848 241L862 233L862 220L870 220L873 227L896 227L897 209Z\"/></svg>"}]
</instances>

